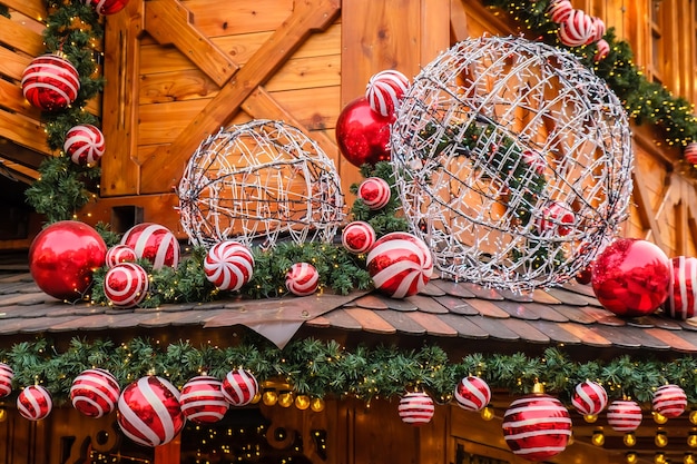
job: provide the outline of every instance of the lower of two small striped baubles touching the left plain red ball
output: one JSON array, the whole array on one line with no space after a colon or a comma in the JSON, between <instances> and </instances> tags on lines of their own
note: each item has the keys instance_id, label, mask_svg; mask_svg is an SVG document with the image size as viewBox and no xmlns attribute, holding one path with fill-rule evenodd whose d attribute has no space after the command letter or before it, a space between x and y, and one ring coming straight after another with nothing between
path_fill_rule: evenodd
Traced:
<instances>
[{"instance_id":1,"label":"lower of two small striped baubles touching the left plain red ball","mask_svg":"<svg viewBox=\"0 0 697 464\"><path fill-rule=\"evenodd\" d=\"M136 263L121 263L104 278L104 294L114 306L131 308L138 306L148 293L148 273Z\"/></svg>"}]
</instances>

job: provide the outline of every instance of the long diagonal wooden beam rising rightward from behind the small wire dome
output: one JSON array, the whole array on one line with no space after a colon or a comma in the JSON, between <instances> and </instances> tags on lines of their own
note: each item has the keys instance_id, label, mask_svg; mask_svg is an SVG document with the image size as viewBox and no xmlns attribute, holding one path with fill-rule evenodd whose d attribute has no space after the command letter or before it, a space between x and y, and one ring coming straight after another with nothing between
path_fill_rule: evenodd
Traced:
<instances>
[{"instance_id":1,"label":"long diagonal wooden beam rising rightward from behind the small wire dome","mask_svg":"<svg viewBox=\"0 0 697 464\"><path fill-rule=\"evenodd\" d=\"M143 192L158 192L178 182L188 158L207 136L235 117L239 106L293 55L307 36L331 24L340 0L295 2L293 14L283 22L218 95L206 105L175 141L159 147L143 165Z\"/></svg>"}]
</instances>

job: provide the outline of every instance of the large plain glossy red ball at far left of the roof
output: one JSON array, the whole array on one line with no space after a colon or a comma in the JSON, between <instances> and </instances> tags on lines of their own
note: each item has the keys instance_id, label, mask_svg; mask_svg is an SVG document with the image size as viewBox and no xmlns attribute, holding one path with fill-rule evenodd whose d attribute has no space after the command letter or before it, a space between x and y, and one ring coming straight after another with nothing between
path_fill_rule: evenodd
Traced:
<instances>
[{"instance_id":1,"label":"large plain glossy red ball at far left of the roof","mask_svg":"<svg viewBox=\"0 0 697 464\"><path fill-rule=\"evenodd\" d=\"M92 227L61 220L41 230L29 248L29 270L41 290L52 297L77 300L105 264L107 245Z\"/></svg>"}]
</instances>

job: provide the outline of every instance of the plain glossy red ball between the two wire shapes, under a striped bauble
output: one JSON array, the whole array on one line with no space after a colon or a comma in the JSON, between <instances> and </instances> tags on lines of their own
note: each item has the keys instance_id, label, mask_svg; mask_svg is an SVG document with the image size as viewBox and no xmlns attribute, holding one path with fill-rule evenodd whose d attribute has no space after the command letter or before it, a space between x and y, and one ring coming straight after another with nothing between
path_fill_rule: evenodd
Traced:
<instances>
[{"instance_id":1,"label":"plain glossy red ball between the two wire shapes, under a striped bauble","mask_svg":"<svg viewBox=\"0 0 697 464\"><path fill-rule=\"evenodd\" d=\"M390 160L390 118L373 111L365 97L346 105L335 130L338 149L352 165Z\"/></svg>"}]
</instances>

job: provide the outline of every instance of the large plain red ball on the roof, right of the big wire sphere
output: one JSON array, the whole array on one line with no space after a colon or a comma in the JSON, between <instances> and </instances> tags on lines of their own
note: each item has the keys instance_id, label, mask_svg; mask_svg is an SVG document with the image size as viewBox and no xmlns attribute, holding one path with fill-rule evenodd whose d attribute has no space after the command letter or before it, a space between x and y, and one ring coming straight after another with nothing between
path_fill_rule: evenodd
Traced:
<instances>
[{"instance_id":1,"label":"large plain red ball on the roof, right of the big wire sphere","mask_svg":"<svg viewBox=\"0 0 697 464\"><path fill-rule=\"evenodd\" d=\"M591 284L609 312L646 316L668 298L670 259L650 241L619 238L596 258Z\"/></svg>"}]
</instances>

